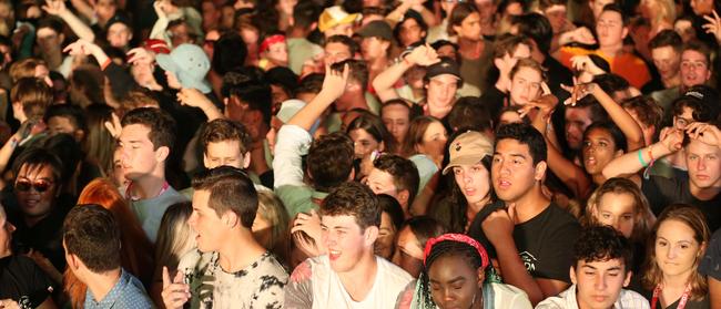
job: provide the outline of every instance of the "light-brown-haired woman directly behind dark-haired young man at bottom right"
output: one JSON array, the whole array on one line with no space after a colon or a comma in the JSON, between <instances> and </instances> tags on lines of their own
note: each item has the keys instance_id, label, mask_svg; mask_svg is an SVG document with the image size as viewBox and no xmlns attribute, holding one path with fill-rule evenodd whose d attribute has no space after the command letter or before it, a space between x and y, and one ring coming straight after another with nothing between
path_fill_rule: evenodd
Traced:
<instances>
[{"instance_id":1,"label":"light-brown-haired woman directly behind dark-haired young man at bottom right","mask_svg":"<svg viewBox=\"0 0 721 309\"><path fill-rule=\"evenodd\" d=\"M610 178L588 199L586 225L609 225L633 244L633 274L638 274L656 216L641 189L627 178Z\"/></svg>"}]
</instances>

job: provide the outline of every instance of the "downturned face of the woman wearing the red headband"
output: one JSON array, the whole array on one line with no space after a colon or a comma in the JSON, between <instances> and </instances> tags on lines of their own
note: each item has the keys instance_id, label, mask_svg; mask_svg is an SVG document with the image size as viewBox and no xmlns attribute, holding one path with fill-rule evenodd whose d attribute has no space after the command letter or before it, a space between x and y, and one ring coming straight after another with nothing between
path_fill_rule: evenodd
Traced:
<instances>
[{"instance_id":1,"label":"downturned face of the woman wearing the red headband","mask_svg":"<svg viewBox=\"0 0 721 309\"><path fill-rule=\"evenodd\" d=\"M430 265L428 282L438 308L473 308L480 303L477 298L483 293L484 272L459 255L445 255Z\"/></svg>"}]
</instances>

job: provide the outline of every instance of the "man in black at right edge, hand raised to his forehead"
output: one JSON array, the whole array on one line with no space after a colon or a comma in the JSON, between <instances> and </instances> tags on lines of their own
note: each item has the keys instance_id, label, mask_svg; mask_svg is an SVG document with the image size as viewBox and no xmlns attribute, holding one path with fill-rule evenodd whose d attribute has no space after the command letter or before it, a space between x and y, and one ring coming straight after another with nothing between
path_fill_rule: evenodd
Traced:
<instances>
[{"instance_id":1,"label":"man in black at right edge, hand raised to his forehead","mask_svg":"<svg viewBox=\"0 0 721 309\"><path fill-rule=\"evenodd\" d=\"M686 136L688 135L688 137ZM688 166L687 177L666 178L651 175L642 177L641 190L649 199L656 215L674 203L699 207L707 217L709 228L721 227L721 130L711 123L693 123L684 127L668 128L661 141L638 152L627 153L609 162L603 176L617 177L640 172L654 161L683 148Z\"/></svg>"}]
</instances>

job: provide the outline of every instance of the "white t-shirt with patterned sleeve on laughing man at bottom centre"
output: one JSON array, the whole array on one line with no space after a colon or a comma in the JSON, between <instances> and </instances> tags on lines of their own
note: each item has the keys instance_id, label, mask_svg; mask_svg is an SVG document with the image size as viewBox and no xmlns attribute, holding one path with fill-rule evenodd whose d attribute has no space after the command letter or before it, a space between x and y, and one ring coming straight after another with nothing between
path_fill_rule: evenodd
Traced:
<instances>
[{"instance_id":1,"label":"white t-shirt with patterned sleeve on laughing man at bottom centre","mask_svg":"<svg viewBox=\"0 0 721 309\"><path fill-rule=\"evenodd\" d=\"M285 289L285 308L395 308L413 277L400 267L376 257L378 265L373 288L362 301L346 291L331 268L327 255L298 265Z\"/></svg>"}]
</instances>

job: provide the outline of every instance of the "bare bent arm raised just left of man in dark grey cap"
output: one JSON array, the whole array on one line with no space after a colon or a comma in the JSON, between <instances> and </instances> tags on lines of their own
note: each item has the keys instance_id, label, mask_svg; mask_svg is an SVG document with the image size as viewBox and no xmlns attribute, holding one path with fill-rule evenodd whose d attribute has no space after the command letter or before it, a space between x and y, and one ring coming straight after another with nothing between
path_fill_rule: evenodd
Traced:
<instances>
[{"instance_id":1,"label":"bare bent arm raised just left of man in dark grey cap","mask_svg":"<svg viewBox=\"0 0 721 309\"><path fill-rule=\"evenodd\" d=\"M373 87L376 90L378 97L382 102L398 99L398 93L393 87L403 74L406 73L414 65L429 65L438 62L438 54L429 45L417 47L408 53L403 61L392 65L385 71L380 72L373 80Z\"/></svg>"}]
</instances>

